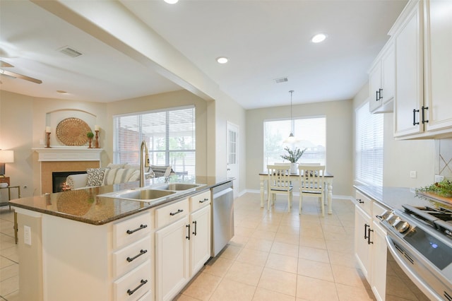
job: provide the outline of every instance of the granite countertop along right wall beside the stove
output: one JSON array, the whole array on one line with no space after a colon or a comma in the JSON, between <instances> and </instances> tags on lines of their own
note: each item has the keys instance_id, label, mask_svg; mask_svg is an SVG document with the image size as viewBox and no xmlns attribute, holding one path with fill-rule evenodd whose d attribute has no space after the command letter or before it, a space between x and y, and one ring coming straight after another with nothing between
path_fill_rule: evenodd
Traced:
<instances>
[{"instance_id":1,"label":"granite countertop along right wall beside the stove","mask_svg":"<svg viewBox=\"0 0 452 301\"><path fill-rule=\"evenodd\" d=\"M378 201L384 206L391 209L403 210L402 205L409 204L411 206L433 206L452 209L452 203L445 203L440 200L428 198L426 196L416 194L415 189L406 187L375 187L366 185L355 185L357 190L369 196L369 198Z\"/></svg>"}]
</instances>

